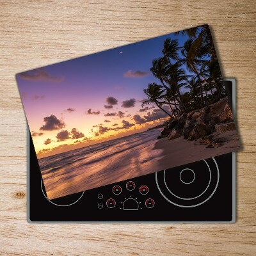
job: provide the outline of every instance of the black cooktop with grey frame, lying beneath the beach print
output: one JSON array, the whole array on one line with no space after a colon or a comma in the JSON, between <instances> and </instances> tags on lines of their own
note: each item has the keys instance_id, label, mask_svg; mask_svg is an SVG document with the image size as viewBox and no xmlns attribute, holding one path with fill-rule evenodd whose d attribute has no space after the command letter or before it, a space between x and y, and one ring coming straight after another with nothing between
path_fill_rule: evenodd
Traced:
<instances>
[{"instance_id":1,"label":"black cooktop with grey frame, lying beneath the beach print","mask_svg":"<svg viewBox=\"0 0 256 256\"><path fill-rule=\"evenodd\" d=\"M225 86L234 110L234 79ZM28 221L234 222L235 164L233 152L49 200L28 132Z\"/></svg>"}]
</instances>

